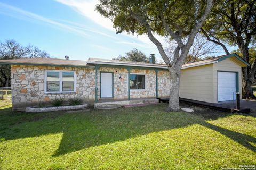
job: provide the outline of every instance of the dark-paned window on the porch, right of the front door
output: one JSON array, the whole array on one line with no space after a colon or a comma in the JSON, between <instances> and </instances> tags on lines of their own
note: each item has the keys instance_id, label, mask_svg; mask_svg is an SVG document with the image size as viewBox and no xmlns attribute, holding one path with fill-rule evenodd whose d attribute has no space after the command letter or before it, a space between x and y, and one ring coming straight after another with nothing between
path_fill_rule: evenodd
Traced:
<instances>
[{"instance_id":1,"label":"dark-paned window on the porch, right of the front door","mask_svg":"<svg viewBox=\"0 0 256 170\"><path fill-rule=\"evenodd\" d=\"M130 74L130 89L145 90L145 75Z\"/></svg>"}]
</instances>

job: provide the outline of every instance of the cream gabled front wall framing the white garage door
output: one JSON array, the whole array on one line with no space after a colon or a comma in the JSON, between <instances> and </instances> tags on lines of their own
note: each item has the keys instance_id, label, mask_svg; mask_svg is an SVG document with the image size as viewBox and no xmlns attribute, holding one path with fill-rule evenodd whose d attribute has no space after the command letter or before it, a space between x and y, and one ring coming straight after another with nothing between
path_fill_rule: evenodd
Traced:
<instances>
[{"instance_id":1,"label":"cream gabled front wall framing the white garage door","mask_svg":"<svg viewBox=\"0 0 256 170\"><path fill-rule=\"evenodd\" d=\"M214 103L218 102L218 71L238 72L239 93L242 94L241 65L231 58L213 64ZM242 95L240 95L242 99Z\"/></svg>"}]
</instances>

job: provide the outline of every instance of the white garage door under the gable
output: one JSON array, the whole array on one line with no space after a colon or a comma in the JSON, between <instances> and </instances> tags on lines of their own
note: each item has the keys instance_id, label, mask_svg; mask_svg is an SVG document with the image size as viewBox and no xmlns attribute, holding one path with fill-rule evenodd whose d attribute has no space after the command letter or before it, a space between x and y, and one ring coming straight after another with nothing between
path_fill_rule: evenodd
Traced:
<instances>
[{"instance_id":1,"label":"white garage door under the gable","mask_svg":"<svg viewBox=\"0 0 256 170\"><path fill-rule=\"evenodd\" d=\"M236 73L218 72L218 101L236 99Z\"/></svg>"}]
</instances>

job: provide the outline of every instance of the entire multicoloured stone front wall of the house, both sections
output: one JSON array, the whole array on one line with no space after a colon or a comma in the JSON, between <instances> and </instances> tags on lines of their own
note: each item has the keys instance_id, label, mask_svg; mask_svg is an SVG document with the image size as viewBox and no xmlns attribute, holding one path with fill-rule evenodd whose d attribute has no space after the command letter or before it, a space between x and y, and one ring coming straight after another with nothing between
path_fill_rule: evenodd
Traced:
<instances>
[{"instance_id":1,"label":"entire multicoloured stone front wall of the house, both sections","mask_svg":"<svg viewBox=\"0 0 256 170\"><path fill-rule=\"evenodd\" d=\"M45 70L69 70L76 74L76 92L70 93L45 93ZM86 102L95 99L95 69L77 67L54 67L33 65L12 65L12 103L14 110L24 110L25 106L38 105L38 101L50 102L55 98L79 97ZM125 68L100 67L98 69L98 99L100 99L100 72L113 72L114 99L128 99L128 71ZM131 74L145 74L146 89L131 90L130 98L156 97L156 72L155 70L131 69ZM158 97L169 96L170 77L168 71L158 71Z\"/></svg>"}]
</instances>

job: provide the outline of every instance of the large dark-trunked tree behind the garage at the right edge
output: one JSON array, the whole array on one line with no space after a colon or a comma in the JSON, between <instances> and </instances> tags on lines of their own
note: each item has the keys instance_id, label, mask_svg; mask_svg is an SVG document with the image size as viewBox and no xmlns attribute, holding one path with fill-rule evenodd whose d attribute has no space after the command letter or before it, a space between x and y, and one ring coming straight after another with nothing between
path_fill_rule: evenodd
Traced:
<instances>
[{"instance_id":1,"label":"large dark-trunked tree behind the garage at the right edge","mask_svg":"<svg viewBox=\"0 0 256 170\"><path fill-rule=\"evenodd\" d=\"M242 58L250 62L249 46L256 41L256 1L220 0L203 25L201 31L206 38L220 45L229 54L226 44L237 45ZM256 71L256 60L242 69L243 98L254 98L251 88Z\"/></svg>"}]
</instances>

